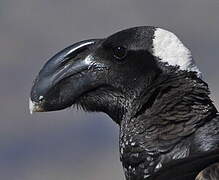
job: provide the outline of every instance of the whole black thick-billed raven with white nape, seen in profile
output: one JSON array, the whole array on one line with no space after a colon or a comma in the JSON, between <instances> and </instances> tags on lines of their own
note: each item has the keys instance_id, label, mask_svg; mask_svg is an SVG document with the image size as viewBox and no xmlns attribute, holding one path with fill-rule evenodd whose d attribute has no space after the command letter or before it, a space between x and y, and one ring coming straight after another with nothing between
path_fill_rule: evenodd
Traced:
<instances>
[{"instance_id":1,"label":"whole black thick-billed raven with white nape, seen in profile","mask_svg":"<svg viewBox=\"0 0 219 180\"><path fill-rule=\"evenodd\" d=\"M219 117L190 50L141 26L75 43L36 77L30 111L80 106L120 127L127 180L219 179Z\"/></svg>"}]
</instances>

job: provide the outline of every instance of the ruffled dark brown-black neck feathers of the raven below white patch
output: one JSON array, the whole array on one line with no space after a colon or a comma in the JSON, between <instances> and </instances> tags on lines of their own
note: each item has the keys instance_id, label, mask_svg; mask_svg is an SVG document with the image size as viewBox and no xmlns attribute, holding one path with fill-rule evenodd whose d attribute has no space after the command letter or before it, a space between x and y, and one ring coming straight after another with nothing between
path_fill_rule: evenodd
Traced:
<instances>
[{"instance_id":1,"label":"ruffled dark brown-black neck feathers of the raven below white patch","mask_svg":"<svg viewBox=\"0 0 219 180\"><path fill-rule=\"evenodd\" d=\"M133 104L120 134L127 177L147 178L174 159L192 156L198 151L194 134L217 115L207 84L192 72L159 76Z\"/></svg>"}]
</instances>

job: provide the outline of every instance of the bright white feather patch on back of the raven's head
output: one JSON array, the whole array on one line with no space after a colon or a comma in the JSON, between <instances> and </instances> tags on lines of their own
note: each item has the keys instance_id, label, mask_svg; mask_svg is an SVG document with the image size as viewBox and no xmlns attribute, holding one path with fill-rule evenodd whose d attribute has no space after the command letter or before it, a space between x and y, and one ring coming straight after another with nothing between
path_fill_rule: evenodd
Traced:
<instances>
[{"instance_id":1,"label":"bright white feather patch on back of the raven's head","mask_svg":"<svg viewBox=\"0 0 219 180\"><path fill-rule=\"evenodd\" d=\"M170 31L156 28L153 55L169 65L179 66L181 70L197 72L198 77L201 77L201 72L192 59L191 51Z\"/></svg>"}]
</instances>

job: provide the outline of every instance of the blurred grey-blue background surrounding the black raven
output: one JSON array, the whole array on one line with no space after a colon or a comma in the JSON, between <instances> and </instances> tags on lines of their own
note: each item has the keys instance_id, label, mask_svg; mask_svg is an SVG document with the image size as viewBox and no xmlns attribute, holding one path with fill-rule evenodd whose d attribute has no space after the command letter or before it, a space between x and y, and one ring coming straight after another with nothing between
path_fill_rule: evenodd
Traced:
<instances>
[{"instance_id":1,"label":"blurred grey-blue background surrounding the black raven","mask_svg":"<svg viewBox=\"0 0 219 180\"><path fill-rule=\"evenodd\" d=\"M183 40L218 107L218 0L0 0L0 179L124 180L109 117L75 109L30 115L28 97L57 51L139 25Z\"/></svg>"}]
</instances>

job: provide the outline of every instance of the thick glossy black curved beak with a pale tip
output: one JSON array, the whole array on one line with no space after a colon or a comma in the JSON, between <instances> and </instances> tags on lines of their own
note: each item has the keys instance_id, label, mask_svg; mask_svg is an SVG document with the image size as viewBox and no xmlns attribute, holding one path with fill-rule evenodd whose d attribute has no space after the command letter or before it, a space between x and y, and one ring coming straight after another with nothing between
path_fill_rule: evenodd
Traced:
<instances>
[{"instance_id":1,"label":"thick glossy black curved beak with a pale tip","mask_svg":"<svg viewBox=\"0 0 219 180\"><path fill-rule=\"evenodd\" d=\"M44 65L31 90L31 114L64 109L72 104L69 99L78 96L92 81L87 76L79 78L83 76L83 72L94 66L102 67L92 56L92 51L99 42L99 39L91 39L73 44L57 53ZM68 79L73 80L70 83Z\"/></svg>"}]
</instances>

